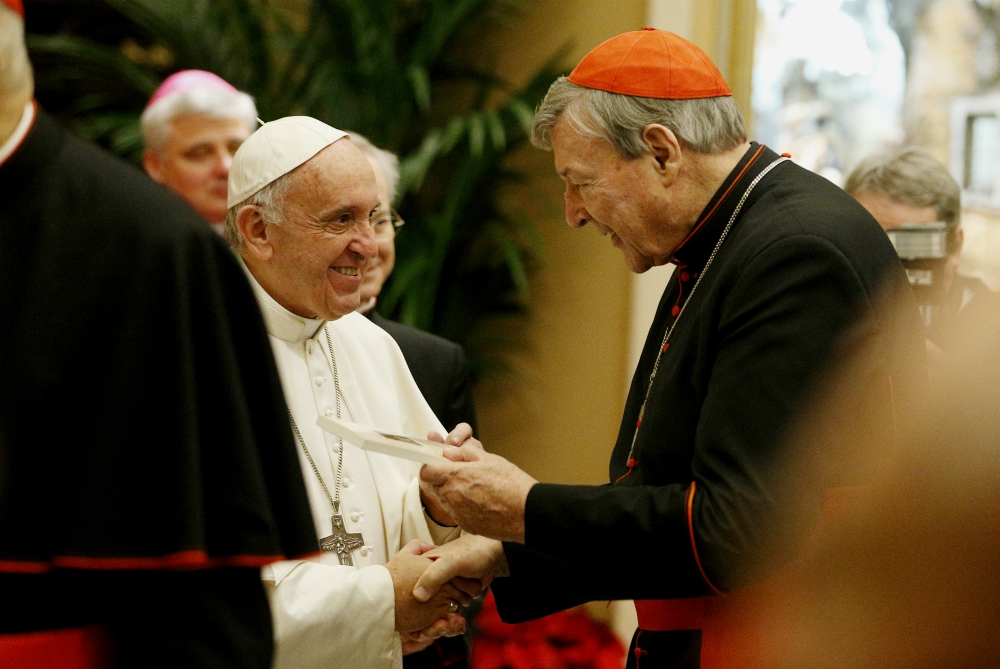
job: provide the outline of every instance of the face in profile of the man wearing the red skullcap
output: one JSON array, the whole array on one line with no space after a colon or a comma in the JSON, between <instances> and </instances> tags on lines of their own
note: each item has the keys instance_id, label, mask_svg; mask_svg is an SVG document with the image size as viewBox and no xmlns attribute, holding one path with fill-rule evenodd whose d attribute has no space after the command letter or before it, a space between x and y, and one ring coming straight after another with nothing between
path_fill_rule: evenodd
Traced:
<instances>
[{"instance_id":1,"label":"face in profile of the man wearing the red skullcap","mask_svg":"<svg viewBox=\"0 0 1000 669\"><path fill-rule=\"evenodd\" d=\"M636 273L667 262L691 225L679 213L654 158L625 160L608 142L558 121L552 130L556 171L566 184L566 222L593 224ZM675 211L676 210L676 211Z\"/></svg>"}]
</instances>

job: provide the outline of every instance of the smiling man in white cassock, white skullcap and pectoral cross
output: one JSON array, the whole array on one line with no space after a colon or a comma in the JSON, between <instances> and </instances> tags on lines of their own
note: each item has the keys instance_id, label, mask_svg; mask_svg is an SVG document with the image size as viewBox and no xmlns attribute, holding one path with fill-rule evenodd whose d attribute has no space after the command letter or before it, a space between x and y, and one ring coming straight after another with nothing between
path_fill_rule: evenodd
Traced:
<instances>
[{"instance_id":1,"label":"smiling man in white cassock, white skullcap and pectoral cross","mask_svg":"<svg viewBox=\"0 0 1000 669\"><path fill-rule=\"evenodd\" d=\"M346 133L292 116L240 147L229 203L226 238L264 313L323 549L263 572L275 666L398 668L428 639L462 633L456 612L481 588L459 579L427 603L414 599L430 564L420 554L458 529L420 489L419 465L316 424L326 416L396 434L442 429L399 347L355 311L377 253L375 174Z\"/></svg>"}]
</instances>

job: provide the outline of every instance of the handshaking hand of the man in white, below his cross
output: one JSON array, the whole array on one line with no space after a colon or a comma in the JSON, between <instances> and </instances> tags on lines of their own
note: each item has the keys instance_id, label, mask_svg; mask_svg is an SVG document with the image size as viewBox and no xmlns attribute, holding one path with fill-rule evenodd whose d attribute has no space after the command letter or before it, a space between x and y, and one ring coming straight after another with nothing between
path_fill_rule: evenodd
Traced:
<instances>
[{"instance_id":1,"label":"handshaking hand of the man in white, below his cross","mask_svg":"<svg viewBox=\"0 0 1000 669\"><path fill-rule=\"evenodd\" d=\"M433 597L420 601L414 599L413 588L417 579L433 565L426 556L432 549L433 545L414 539L385 565L392 577L395 593L397 632L416 632L432 628L438 621L447 622L449 614L453 613L453 603L468 606L482 591L478 579L455 578L441 587Z\"/></svg>"}]
</instances>

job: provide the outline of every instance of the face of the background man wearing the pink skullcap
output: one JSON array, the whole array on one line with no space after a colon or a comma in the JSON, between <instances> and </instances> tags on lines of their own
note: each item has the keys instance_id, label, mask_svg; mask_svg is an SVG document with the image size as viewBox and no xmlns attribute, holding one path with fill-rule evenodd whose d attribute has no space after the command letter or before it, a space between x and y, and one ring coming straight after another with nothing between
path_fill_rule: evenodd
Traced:
<instances>
[{"instance_id":1,"label":"face of the background man wearing the pink skullcap","mask_svg":"<svg viewBox=\"0 0 1000 669\"><path fill-rule=\"evenodd\" d=\"M184 114L170 121L170 138L161 153L147 151L146 172L174 191L209 223L226 220L229 166L251 128L239 119Z\"/></svg>"}]
</instances>

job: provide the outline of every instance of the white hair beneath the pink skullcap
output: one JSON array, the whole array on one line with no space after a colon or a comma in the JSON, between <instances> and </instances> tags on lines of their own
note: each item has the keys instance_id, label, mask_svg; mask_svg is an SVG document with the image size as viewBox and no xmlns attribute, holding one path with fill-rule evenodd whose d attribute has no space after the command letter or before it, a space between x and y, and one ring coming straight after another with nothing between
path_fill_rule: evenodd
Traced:
<instances>
[{"instance_id":1,"label":"white hair beneath the pink skullcap","mask_svg":"<svg viewBox=\"0 0 1000 669\"><path fill-rule=\"evenodd\" d=\"M142 113L142 138L146 148L160 153L170 140L170 122L185 114L199 114L210 119L236 119L253 129L257 107L246 93L220 88L192 88L157 100Z\"/></svg>"}]
</instances>

